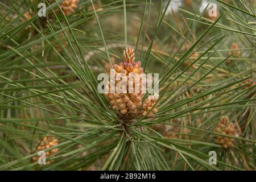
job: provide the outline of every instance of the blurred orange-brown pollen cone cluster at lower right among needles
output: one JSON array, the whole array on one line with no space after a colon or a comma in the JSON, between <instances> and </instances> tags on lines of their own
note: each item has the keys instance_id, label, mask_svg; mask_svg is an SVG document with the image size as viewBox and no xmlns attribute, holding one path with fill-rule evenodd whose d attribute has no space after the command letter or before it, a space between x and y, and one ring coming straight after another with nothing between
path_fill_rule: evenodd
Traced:
<instances>
[{"instance_id":1,"label":"blurred orange-brown pollen cone cluster at lower right among needles","mask_svg":"<svg viewBox=\"0 0 256 182\"><path fill-rule=\"evenodd\" d=\"M217 127L214 131L216 133L238 137L238 133L234 127L234 124L230 122L229 118L226 116L221 117L220 122L218 122ZM223 148L233 147L234 146L233 142L234 142L233 138L216 135L215 143L220 144Z\"/></svg>"}]
</instances>

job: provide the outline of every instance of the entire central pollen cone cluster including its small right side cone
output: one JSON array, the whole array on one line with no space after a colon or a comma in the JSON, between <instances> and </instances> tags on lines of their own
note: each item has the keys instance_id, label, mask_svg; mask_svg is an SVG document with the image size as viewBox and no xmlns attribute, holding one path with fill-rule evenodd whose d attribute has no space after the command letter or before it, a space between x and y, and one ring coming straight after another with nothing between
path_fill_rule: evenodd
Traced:
<instances>
[{"instance_id":1,"label":"entire central pollen cone cluster including its small right side cone","mask_svg":"<svg viewBox=\"0 0 256 182\"><path fill-rule=\"evenodd\" d=\"M134 49L126 48L123 51L123 62L119 64L114 64L113 68L115 75L118 73L124 73L127 77L127 91L138 89L139 93L106 93L105 96L108 98L110 105L114 110L119 111L123 116L136 117L138 115L146 115L147 117L154 117L154 114L158 112L158 109L152 106L155 104L153 100L145 100L142 103L142 98L144 94L142 93L142 77L143 68L141 67L141 62L135 62ZM129 80L129 73L137 73L133 80ZM137 77L138 76L138 77ZM133 81L133 88L129 88L129 81ZM117 85L119 80L115 80L115 85ZM138 88L135 88L138 86ZM110 90L110 89L109 89ZM142 107L142 109L141 109ZM151 110L152 109L152 110ZM151 110L149 112L149 110Z\"/></svg>"}]
</instances>

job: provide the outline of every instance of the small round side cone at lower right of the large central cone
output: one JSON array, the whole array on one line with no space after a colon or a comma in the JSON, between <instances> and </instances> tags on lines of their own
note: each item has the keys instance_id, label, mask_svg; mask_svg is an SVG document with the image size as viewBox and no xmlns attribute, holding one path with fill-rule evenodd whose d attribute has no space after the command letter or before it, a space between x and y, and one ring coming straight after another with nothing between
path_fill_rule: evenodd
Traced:
<instances>
[{"instance_id":1,"label":"small round side cone at lower right of the large central cone","mask_svg":"<svg viewBox=\"0 0 256 182\"><path fill-rule=\"evenodd\" d=\"M148 100L148 98L143 102L142 105L142 115L146 115L148 118L154 117L154 114L158 112L157 100Z\"/></svg>"}]
</instances>

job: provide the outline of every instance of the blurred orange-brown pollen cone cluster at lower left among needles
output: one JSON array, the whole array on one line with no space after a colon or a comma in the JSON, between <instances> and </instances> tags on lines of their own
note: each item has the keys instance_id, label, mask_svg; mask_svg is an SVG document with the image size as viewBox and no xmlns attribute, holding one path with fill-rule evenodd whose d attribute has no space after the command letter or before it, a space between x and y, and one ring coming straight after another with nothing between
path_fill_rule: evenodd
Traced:
<instances>
[{"instance_id":1,"label":"blurred orange-brown pollen cone cluster at lower left among needles","mask_svg":"<svg viewBox=\"0 0 256 182\"><path fill-rule=\"evenodd\" d=\"M50 137L50 136L46 136L42 139L42 142L40 143L40 145L38 146L38 148L36 148L36 152L39 152L39 151L43 151L43 150L46 150L47 148L50 148L50 147L53 147L53 146L57 146L59 140L55 137ZM46 160L48 158L50 158L50 156L52 156L53 154L55 154L57 151L59 151L58 148L54 148L53 150L51 151L47 151L46 152ZM32 158L32 160L34 162L38 161L38 156L35 156ZM49 160L49 161L46 161L46 164L50 164L50 163L53 163L54 160Z\"/></svg>"}]
</instances>

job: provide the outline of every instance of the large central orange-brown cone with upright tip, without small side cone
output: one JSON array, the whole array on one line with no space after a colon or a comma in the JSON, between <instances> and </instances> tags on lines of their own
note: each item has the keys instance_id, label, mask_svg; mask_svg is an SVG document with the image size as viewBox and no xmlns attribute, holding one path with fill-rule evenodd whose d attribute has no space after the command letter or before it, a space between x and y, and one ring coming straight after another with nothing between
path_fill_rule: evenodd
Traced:
<instances>
[{"instance_id":1,"label":"large central orange-brown cone with upright tip, without small side cone","mask_svg":"<svg viewBox=\"0 0 256 182\"><path fill-rule=\"evenodd\" d=\"M124 73L127 78L127 93L106 93L105 96L108 98L110 105L114 110L119 111L122 115L131 116L138 115L138 109L142 106L142 77L141 73L143 73L143 68L141 68L141 62L134 61L134 49L126 48L123 51L123 62L119 63L119 65L114 64L113 68L115 71L115 75L118 73ZM137 77L133 78L133 91L135 89L135 82L138 83L138 92L129 93L129 73L137 73ZM138 79L138 80L137 80ZM118 79L115 81L115 86L118 84ZM109 89L110 92L110 89Z\"/></svg>"}]
</instances>

